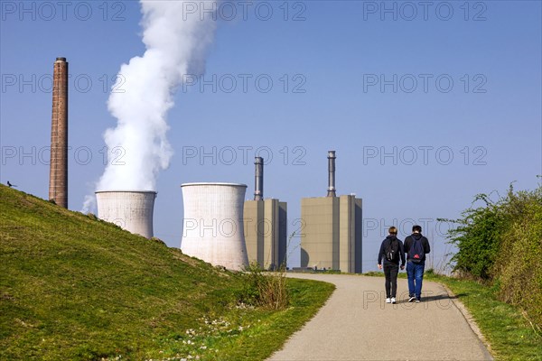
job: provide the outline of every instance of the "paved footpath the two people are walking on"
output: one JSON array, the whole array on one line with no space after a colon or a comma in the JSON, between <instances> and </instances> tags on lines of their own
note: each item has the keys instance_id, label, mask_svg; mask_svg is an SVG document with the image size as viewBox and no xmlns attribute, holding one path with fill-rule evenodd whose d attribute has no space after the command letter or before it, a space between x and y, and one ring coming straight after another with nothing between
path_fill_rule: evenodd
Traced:
<instances>
[{"instance_id":1,"label":"paved footpath the two people are walking on","mask_svg":"<svg viewBox=\"0 0 542 361\"><path fill-rule=\"evenodd\" d=\"M269 360L491 360L455 302L439 283L424 281L422 302L385 303L383 277L288 274L336 285L332 297Z\"/></svg>"}]
</instances>

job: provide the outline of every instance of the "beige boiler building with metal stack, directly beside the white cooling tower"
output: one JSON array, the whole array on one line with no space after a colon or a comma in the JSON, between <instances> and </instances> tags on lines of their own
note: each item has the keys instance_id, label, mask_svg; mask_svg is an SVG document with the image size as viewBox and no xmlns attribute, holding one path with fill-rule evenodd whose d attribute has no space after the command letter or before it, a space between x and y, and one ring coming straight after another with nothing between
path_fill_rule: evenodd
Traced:
<instances>
[{"instance_id":1,"label":"beige boiler building with metal stack, directly beside the white cooling tower","mask_svg":"<svg viewBox=\"0 0 542 361\"><path fill-rule=\"evenodd\" d=\"M248 262L262 269L286 265L287 203L264 199L264 160L257 157L254 200L245 201L244 222Z\"/></svg>"}]
</instances>

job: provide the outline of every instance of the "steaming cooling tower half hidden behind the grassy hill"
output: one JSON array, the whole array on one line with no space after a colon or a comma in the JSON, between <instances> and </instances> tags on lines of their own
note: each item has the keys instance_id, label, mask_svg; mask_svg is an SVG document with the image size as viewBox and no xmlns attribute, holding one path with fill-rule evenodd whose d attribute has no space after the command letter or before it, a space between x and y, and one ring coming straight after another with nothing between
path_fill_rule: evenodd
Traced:
<instances>
[{"instance_id":1,"label":"steaming cooling tower half hidden behind the grassy hill","mask_svg":"<svg viewBox=\"0 0 542 361\"><path fill-rule=\"evenodd\" d=\"M137 235L153 237L155 191L98 190L98 218Z\"/></svg>"}]
</instances>

